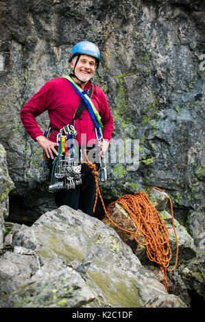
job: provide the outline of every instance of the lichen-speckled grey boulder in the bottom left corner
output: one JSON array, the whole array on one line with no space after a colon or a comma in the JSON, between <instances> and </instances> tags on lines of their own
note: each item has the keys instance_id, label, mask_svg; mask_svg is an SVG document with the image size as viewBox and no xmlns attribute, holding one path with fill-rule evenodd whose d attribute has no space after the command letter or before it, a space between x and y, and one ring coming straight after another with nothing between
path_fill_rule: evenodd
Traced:
<instances>
[{"instance_id":1,"label":"lichen-speckled grey boulder in the bottom left corner","mask_svg":"<svg viewBox=\"0 0 205 322\"><path fill-rule=\"evenodd\" d=\"M79 308L95 299L79 273L67 267L0 299L1 308Z\"/></svg>"}]
</instances>

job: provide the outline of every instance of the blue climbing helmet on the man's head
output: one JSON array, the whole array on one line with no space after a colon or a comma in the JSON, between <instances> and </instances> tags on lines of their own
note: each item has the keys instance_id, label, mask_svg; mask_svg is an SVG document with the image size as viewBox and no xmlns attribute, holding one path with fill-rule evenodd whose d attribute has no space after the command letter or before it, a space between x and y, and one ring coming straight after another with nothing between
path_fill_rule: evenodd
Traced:
<instances>
[{"instance_id":1,"label":"blue climbing helmet on the man's head","mask_svg":"<svg viewBox=\"0 0 205 322\"><path fill-rule=\"evenodd\" d=\"M71 62L71 60L75 55L92 56L96 58L97 68L99 67L99 60L100 60L99 49L95 44L93 44L93 42L90 42L90 41L77 42L77 44L71 50L71 53L69 56L69 62Z\"/></svg>"}]
</instances>

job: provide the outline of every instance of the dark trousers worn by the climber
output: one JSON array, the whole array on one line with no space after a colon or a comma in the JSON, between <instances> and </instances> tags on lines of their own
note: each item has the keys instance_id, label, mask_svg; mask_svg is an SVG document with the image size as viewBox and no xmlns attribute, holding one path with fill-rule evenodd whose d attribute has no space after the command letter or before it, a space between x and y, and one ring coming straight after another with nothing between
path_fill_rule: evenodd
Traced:
<instances>
[{"instance_id":1,"label":"dark trousers worn by the climber","mask_svg":"<svg viewBox=\"0 0 205 322\"><path fill-rule=\"evenodd\" d=\"M92 170L84 164L84 174L82 184L75 189L61 189L55 193L56 206L67 205L75 210L82 210L86 214L93 216L93 206L95 203L95 177Z\"/></svg>"}]
</instances>

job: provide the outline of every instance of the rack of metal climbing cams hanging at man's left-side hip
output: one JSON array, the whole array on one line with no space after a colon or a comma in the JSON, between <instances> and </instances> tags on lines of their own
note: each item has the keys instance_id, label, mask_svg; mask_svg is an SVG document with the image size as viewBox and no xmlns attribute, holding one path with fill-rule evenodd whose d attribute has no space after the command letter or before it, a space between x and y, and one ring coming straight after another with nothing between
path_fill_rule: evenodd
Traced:
<instances>
[{"instance_id":1,"label":"rack of metal climbing cams hanging at man's left-side hip","mask_svg":"<svg viewBox=\"0 0 205 322\"><path fill-rule=\"evenodd\" d=\"M51 192L64 188L75 189L75 186L82 184L76 135L73 125L62 127L57 135L58 156L53 160L49 186Z\"/></svg>"}]
</instances>

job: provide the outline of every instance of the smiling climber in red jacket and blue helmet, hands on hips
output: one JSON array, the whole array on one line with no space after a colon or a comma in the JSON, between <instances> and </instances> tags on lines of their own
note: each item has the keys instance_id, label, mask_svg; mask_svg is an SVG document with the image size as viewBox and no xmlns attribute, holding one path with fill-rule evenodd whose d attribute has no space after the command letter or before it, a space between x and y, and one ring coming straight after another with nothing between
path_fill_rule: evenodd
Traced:
<instances>
[{"instance_id":1,"label":"smiling climber in red jacket and blue helmet, hands on hips","mask_svg":"<svg viewBox=\"0 0 205 322\"><path fill-rule=\"evenodd\" d=\"M77 146L81 148L86 145L89 149L97 145L99 129L96 130L98 123L96 119L93 120L93 111L103 125L104 140L101 145L101 156L108 149L113 129L112 115L104 92L91 83L91 78L99 66L99 60L99 49L95 44L88 41L78 42L70 53L69 62L72 73L69 77L51 79L22 108L22 123L28 134L44 149L48 160L53 160L56 156L59 158L56 138L59 138L58 134L62 133L60 129L67 125L73 124ZM88 92L91 93L91 98L86 95ZM85 100L84 97L87 99ZM77 107L82 101L86 101L88 106L73 121ZM35 119L45 110L49 113L52 129L49 139L43 135ZM83 166L82 184L77 184L75 188L61 188L56 191L55 201L58 207L67 205L93 215L95 178L91 169Z\"/></svg>"}]
</instances>

